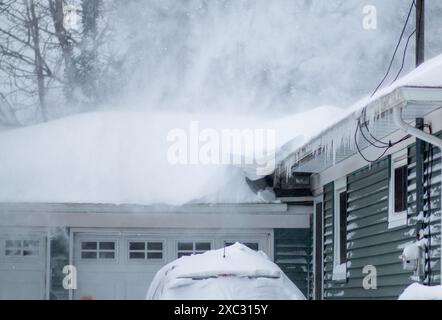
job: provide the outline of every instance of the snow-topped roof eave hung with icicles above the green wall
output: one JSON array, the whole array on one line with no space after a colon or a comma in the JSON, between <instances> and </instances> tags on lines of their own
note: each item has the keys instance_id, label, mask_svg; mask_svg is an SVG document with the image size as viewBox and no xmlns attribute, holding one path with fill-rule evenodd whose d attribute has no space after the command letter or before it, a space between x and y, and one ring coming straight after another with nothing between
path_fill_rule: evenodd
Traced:
<instances>
[{"instance_id":1,"label":"snow-topped roof eave hung with icicles above the green wall","mask_svg":"<svg viewBox=\"0 0 442 320\"><path fill-rule=\"evenodd\" d=\"M384 139L398 130L392 117L398 105L403 106L403 119L409 123L442 107L442 55L351 106L341 119L293 148L279 163L280 171L322 172L356 154L355 132L363 111L372 135ZM360 133L356 139L361 150L369 147Z\"/></svg>"}]
</instances>

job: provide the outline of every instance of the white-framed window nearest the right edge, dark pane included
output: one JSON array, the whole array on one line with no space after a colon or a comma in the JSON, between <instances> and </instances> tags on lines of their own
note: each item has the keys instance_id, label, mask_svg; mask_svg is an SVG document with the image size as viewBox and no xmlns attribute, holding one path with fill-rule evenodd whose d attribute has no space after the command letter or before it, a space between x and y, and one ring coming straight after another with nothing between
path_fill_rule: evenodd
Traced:
<instances>
[{"instance_id":1,"label":"white-framed window nearest the right edge, dark pane included","mask_svg":"<svg viewBox=\"0 0 442 320\"><path fill-rule=\"evenodd\" d=\"M407 224L407 156L407 149L404 149L398 153L395 153L391 158L388 228L396 228Z\"/></svg>"}]
</instances>

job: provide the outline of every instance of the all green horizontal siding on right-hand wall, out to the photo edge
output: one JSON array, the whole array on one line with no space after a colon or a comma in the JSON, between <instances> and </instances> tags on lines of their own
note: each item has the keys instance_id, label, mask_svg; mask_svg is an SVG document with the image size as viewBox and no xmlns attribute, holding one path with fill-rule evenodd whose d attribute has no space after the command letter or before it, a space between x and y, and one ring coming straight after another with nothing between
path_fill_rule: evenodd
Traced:
<instances>
[{"instance_id":1,"label":"all green horizontal siding on right-hand wall, out to the photo edge","mask_svg":"<svg viewBox=\"0 0 442 320\"><path fill-rule=\"evenodd\" d=\"M442 133L438 134L442 137ZM333 275L334 186L324 186L324 299L397 299L413 281L412 272L403 270L403 248L424 228L430 241L424 283L441 284L441 152L430 146L424 150L424 216L416 212L416 146L408 148L408 224L388 229L390 158L366 166L347 176L347 281L336 282ZM430 166L430 167L429 167ZM431 168L431 170L430 170ZM431 184L429 178L431 177ZM431 190L430 197L425 191ZM431 228L428 228L430 225ZM428 230L431 233L428 234ZM365 290L362 269L377 270L377 289ZM430 275L430 277L429 277Z\"/></svg>"}]
</instances>

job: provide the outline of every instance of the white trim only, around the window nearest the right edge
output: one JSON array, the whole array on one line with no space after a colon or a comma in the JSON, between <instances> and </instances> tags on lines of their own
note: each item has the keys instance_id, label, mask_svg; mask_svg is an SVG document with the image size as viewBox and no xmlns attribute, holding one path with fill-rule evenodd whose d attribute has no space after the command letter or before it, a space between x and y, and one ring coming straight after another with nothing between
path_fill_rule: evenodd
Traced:
<instances>
[{"instance_id":1,"label":"white trim only, around the window nearest the right edge","mask_svg":"<svg viewBox=\"0 0 442 320\"><path fill-rule=\"evenodd\" d=\"M407 210L402 212L394 211L394 171L397 168L408 165L408 150L403 149L391 156L390 163L390 183L389 183L389 201L388 201L388 229L397 228L407 225L408 212Z\"/></svg>"}]
</instances>

